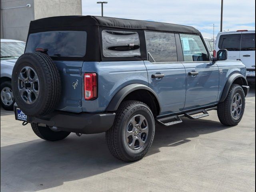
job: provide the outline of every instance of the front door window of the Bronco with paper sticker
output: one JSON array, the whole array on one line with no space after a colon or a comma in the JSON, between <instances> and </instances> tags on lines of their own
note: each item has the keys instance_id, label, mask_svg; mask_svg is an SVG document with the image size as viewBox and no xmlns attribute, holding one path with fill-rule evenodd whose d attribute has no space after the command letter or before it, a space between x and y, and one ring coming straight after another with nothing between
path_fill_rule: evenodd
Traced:
<instances>
[{"instance_id":1,"label":"front door window of the Bronco with paper sticker","mask_svg":"<svg viewBox=\"0 0 256 192\"><path fill-rule=\"evenodd\" d=\"M208 52L200 36L180 34L184 61L209 61Z\"/></svg>"}]
</instances>

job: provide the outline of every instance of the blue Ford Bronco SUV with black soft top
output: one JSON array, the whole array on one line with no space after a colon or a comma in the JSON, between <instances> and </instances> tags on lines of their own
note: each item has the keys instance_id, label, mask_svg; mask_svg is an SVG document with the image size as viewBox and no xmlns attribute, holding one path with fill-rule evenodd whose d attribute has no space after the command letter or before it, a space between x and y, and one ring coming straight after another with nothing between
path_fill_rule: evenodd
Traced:
<instances>
[{"instance_id":1,"label":"blue Ford Bronco SUV with black soft top","mask_svg":"<svg viewBox=\"0 0 256 192\"><path fill-rule=\"evenodd\" d=\"M249 91L241 61L212 58L193 27L98 16L30 22L12 88L16 120L49 141L70 132L106 132L114 157L132 162L149 150L155 124L217 110L234 126Z\"/></svg>"}]
</instances>

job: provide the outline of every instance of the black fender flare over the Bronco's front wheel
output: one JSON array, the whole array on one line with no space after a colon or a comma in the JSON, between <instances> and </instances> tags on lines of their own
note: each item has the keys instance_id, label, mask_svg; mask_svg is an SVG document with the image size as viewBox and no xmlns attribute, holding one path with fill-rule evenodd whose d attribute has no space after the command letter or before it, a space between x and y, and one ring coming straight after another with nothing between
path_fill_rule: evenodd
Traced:
<instances>
[{"instance_id":1,"label":"black fender flare over the Bronco's front wheel","mask_svg":"<svg viewBox=\"0 0 256 192\"><path fill-rule=\"evenodd\" d=\"M222 92L222 95L221 95L221 98L220 98L220 102L224 102L224 100L225 100L226 97L228 96L228 92L229 92L229 90L230 90L230 87L232 86L233 82L234 82L237 78L242 78L242 79L243 79L242 88L243 88L244 93L245 93L245 96L246 96L246 94L247 94L248 91L247 91L247 89L246 89L245 87L243 87L243 86L248 86L248 82L247 82L246 78L245 78L243 75L241 75L241 74L239 74L239 73L235 73L235 74L232 74L232 75L228 78L228 80L227 80L227 82L226 82L226 84L225 84L225 86L224 86L224 89L223 89L223 92ZM245 83L244 83L244 82L245 82Z\"/></svg>"}]
</instances>

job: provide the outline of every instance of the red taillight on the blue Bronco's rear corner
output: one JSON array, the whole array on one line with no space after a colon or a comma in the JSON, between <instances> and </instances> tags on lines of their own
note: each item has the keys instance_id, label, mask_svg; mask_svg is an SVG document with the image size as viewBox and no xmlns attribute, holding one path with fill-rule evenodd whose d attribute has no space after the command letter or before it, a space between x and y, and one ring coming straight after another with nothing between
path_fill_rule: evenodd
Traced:
<instances>
[{"instance_id":1,"label":"red taillight on the blue Bronco's rear corner","mask_svg":"<svg viewBox=\"0 0 256 192\"><path fill-rule=\"evenodd\" d=\"M84 98L85 100L92 100L97 97L97 74L84 74Z\"/></svg>"}]
</instances>

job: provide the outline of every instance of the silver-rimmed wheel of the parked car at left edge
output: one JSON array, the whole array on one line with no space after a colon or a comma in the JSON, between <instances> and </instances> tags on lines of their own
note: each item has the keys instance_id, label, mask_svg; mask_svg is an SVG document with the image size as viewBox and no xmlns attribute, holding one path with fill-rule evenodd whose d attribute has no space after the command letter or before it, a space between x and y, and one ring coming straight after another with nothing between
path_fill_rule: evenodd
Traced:
<instances>
[{"instance_id":1,"label":"silver-rimmed wheel of the parked car at left edge","mask_svg":"<svg viewBox=\"0 0 256 192\"><path fill-rule=\"evenodd\" d=\"M1 83L1 105L5 110L12 111L14 105L14 96L12 92L12 83L5 81Z\"/></svg>"}]
</instances>

